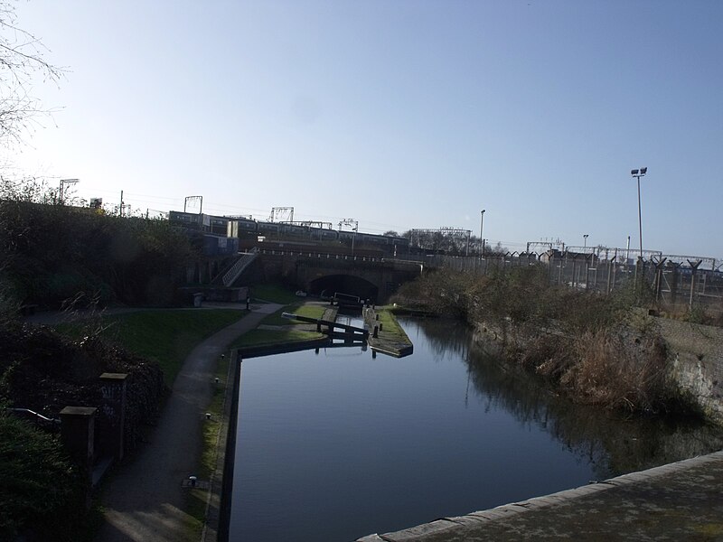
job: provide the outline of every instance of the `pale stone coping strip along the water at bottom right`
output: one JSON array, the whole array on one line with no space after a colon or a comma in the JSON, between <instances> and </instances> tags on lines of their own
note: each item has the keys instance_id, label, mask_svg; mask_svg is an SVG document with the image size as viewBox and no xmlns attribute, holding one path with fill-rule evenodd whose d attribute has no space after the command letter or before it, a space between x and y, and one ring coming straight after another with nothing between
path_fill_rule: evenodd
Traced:
<instances>
[{"instance_id":1,"label":"pale stone coping strip along the water at bottom right","mask_svg":"<svg viewBox=\"0 0 723 542\"><path fill-rule=\"evenodd\" d=\"M612 490L614 488L633 485L642 481L652 481L668 474L684 472L694 467L707 463L714 463L720 460L723 460L723 450L709 453L707 455L692 457L690 459L684 459L675 463L664 464L651 469L646 469L645 471L622 474L605 481L591 482L585 486L580 486L570 490L558 491L556 493L550 493L549 495L535 497L529 500L504 504L493 509L471 512L469 514L465 514L464 516L435 519L434 521L423 523L415 527L405 528L382 535L375 533L366 537L357 538L355 542L404 542L424 540L427 536L433 537L452 528L484 528L484 524L511 519L513 516L527 511L551 508L599 491Z\"/></svg>"}]
</instances>

